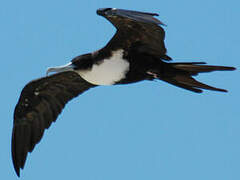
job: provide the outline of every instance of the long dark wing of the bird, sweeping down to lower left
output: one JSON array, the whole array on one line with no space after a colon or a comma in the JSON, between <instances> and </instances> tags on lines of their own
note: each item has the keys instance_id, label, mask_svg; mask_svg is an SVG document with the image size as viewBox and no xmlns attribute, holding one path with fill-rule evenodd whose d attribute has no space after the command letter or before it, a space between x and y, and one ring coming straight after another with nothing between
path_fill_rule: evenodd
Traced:
<instances>
[{"instance_id":1,"label":"long dark wing of the bird, sweeping down to lower left","mask_svg":"<svg viewBox=\"0 0 240 180\"><path fill-rule=\"evenodd\" d=\"M14 111L12 160L17 175L65 104L94 85L75 72L62 72L28 83L22 90Z\"/></svg>"}]
</instances>

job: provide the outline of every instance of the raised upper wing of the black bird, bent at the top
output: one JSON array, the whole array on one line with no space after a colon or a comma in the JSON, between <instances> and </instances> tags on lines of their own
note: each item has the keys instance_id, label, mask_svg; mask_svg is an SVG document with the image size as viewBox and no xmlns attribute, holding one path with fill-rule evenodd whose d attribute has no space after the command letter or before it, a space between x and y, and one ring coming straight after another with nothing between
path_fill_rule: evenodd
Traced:
<instances>
[{"instance_id":1,"label":"raised upper wing of the black bird, bent at the top","mask_svg":"<svg viewBox=\"0 0 240 180\"><path fill-rule=\"evenodd\" d=\"M171 60L166 55L165 32L160 26L164 24L153 17L158 14L114 8L98 9L97 14L108 19L117 28L114 37L105 48L129 49L134 47L134 50L140 53Z\"/></svg>"}]
</instances>

